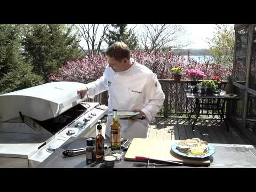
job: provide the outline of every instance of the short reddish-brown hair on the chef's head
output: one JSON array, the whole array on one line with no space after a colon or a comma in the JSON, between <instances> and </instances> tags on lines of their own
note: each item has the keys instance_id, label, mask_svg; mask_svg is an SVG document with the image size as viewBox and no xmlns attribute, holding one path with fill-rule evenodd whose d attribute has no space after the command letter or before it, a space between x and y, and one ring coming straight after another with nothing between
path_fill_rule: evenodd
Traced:
<instances>
[{"instance_id":1,"label":"short reddish-brown hair on the chef's head","mask_svg":"<svg viewBox=\"0 0 256 192\"><path fill-rule=\"evenodd\" d=\"M111 58L113 57L118 61L121 61L124 58L131 58L129 46L123 42L115 42L110 45L107 49L106 55Z\"/></svg>"}]
</instances>

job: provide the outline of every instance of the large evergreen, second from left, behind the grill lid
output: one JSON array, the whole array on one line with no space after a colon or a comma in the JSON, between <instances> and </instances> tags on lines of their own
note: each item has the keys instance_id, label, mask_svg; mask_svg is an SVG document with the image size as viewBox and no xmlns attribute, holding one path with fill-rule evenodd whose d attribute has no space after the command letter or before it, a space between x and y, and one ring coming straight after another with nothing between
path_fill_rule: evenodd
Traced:
<instances>
[{"instance_id":1,"label":"large evergreen, second from left, behind the grill lid","mask_svg":"<svg viewBox=\"0 0 256 192\"><path fill-rule=\"evenodd\" d=\"M80 40L71 30L71 26L55 24L29 25L22 39L23 55L33 64L33 71L43 75L45 80L68 59L82 56Z\"/></svg>"}]
</instances>

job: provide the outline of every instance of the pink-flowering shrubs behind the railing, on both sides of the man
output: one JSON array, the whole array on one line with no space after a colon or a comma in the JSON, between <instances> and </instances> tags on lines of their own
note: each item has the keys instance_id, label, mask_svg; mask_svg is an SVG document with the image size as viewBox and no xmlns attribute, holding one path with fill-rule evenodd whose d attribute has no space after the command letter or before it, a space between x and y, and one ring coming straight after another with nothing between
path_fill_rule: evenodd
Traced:
<instances>
[{"instance_id":1,"label":"pink-flowering shrubs behind the railing, on both sides of the man","mask_svg":"<svg viewBox=\"0 0 256 192\"><path fill-rule=\"evenodd\" d=\"M183 74L186 69L201 70L206 79L219 76L225 80L231 74L230 68L225 68L220 64L210 62L200 63L191 59L189 55L188 60L186 60L182 55L174 55L171 51L168 53L159 52L157 54L137 51L133 52L131 56L138 63L141 63L141 65L145 65L151 69L157 75L158 79L172 79L171 69L178 66ZM76 81L89 83L101 77L106 66L107 59L101 55L68 60L60 69L52 71L47 80L48 82Z\"/></svg>"}]
</instances>

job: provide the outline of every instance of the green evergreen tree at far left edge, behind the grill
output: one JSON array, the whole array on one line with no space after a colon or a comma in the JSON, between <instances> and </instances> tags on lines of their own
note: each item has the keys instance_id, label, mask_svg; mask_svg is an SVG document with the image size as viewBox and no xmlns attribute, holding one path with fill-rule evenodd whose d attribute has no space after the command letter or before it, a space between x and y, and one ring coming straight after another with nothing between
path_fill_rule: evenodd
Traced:
<instances>
[{"instance_id":1,"label":"green evergreen tree at far left edge, behind the grill","mask_svg":"<svg viewBox=\"0 0 256 192\"><path fill-rule=\"evenodd\" d=\"M20 52L20 25L0 25L0 94L43 83Z\"/></svg>"}]
</instances>

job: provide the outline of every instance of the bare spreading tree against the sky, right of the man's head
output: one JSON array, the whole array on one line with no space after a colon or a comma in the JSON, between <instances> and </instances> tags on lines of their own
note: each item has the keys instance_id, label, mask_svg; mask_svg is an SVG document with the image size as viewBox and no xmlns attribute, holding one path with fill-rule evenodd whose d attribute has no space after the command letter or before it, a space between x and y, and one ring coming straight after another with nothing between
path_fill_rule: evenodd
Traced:
<instances>
[{"instance_id":1,"label":"bare spreading tree against the sky, right of the man's head","mask_svg":"<svg viewBox=\"0 0 256 192\"><path fill-rule=\"evenodd\" d=\"M146 51L158 52L164 46L178 49L189 43L182 42L186 30L177 24L143 24L141 43Z\"/></svg>"}]
</instances>

